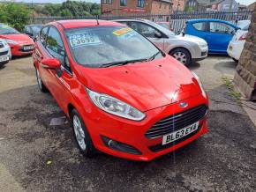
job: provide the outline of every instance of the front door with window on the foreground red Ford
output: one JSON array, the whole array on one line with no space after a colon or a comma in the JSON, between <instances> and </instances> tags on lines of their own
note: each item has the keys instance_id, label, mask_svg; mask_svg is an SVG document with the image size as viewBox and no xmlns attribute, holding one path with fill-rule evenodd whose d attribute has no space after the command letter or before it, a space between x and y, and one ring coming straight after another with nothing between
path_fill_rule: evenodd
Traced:
<instances>
[{"instance_id":1,"label":"front door with window on the foreground red Ford","mask_svg":"<svg viewBox=\"0 0 256 192\"><path fill-rule=\"evenodd\" d=\"M48 73L50 92L53 94L59 106L65 109L67 100L71 94L72 70L69 60L65 56L65 48L61 35L55 26L49 26L45 48L50 58L56 58L61 63L61 69L44 70Z\"/></svg>"}]
</instances>

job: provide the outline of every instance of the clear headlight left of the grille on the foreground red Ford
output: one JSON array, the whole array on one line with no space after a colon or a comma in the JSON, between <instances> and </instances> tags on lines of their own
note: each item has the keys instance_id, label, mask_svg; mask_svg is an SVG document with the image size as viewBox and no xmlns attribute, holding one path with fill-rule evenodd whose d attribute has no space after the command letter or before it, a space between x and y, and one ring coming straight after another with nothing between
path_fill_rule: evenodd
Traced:
<instances>
[{"instance_id":1,"label":"clear headlight left of the grille on the foreground red Ford","mask_svg":"<svg viewBox=\"0 0 256 192\"><path fill-rule=\"evenodd\" d=\"M116 98L113 98L107 94L93 92L88 88L86 88L86 90L94 104L109 114L115 114L133 121L141 121L146 116L138 109L124 103L121 100L117 100Z\"/></svg>"}]
</instances>

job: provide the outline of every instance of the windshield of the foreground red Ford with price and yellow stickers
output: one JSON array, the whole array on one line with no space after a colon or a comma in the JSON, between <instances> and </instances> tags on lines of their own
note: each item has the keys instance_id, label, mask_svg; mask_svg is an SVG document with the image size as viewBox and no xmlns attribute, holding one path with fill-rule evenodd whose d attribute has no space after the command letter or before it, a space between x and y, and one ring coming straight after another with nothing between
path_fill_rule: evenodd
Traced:
<instances>
[{"instance_id":1,"label":"windshield of the foreground red Ford with price and yellow stickers","mask_svg":"<svg viewBox=\"0 0 256 192\"><path fill-rule=\"evenodd\" d=\"M127 26L92 26L65 31L74 60L100 68L162 57L162 52ZM152 57L153 56L153 57Z\"/></svg>"}]
</instances>

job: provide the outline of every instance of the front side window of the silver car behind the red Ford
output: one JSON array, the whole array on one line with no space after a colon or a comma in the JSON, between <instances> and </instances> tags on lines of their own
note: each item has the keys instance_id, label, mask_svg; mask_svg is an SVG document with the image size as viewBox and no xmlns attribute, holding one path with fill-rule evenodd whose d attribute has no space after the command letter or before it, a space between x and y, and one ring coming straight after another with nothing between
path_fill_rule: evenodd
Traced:
<instances>
[{"instance_id":1,"label":"front side window of the silver car behind the red Ford","mask_svg":"<svg viewBox=\"0 0 256 192\"><path fill-rule=\"evenodd\" d=\"M154 33L157 32L154 27L140 22L131 22L129 26L148 38L154 38Z\"/></svg>"}]
</instances>

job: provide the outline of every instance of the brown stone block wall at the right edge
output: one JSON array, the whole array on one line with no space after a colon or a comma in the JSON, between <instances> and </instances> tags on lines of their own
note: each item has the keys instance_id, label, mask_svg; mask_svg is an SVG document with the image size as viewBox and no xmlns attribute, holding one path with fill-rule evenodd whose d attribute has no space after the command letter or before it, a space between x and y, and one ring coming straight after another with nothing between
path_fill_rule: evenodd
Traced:
<instances>
[{"instance_id":1,"label":"brown stone block wall at the right edge","mask_svg":"<svg viewBox=\"0 0 256 192\"><path fill-rule=\"evenodd\" d=\"M256 3L234 82L248 100L256 100Z\"/></svg>"}]
</instances>

